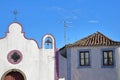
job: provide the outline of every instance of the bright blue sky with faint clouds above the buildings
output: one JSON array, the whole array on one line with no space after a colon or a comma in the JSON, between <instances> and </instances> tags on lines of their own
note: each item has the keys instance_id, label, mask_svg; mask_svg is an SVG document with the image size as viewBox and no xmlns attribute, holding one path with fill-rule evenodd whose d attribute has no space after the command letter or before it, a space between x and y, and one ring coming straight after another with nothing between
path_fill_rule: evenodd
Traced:
<instances>
[{"instance_id":1,"label":"bright blue sky with faint clouds above the buildings","mask_svg":"<svg viewBox=\"0 0 120 80\"><path fill-rule=\"evenodd\" d=\"M14 10L26 37L35 39L39 47L47 33L55 37L57 48L64 46L64 20L67 43L96 31L120 41L120 0L0 0L0 37L14 22Z\"/></svg>"}]
</instances>

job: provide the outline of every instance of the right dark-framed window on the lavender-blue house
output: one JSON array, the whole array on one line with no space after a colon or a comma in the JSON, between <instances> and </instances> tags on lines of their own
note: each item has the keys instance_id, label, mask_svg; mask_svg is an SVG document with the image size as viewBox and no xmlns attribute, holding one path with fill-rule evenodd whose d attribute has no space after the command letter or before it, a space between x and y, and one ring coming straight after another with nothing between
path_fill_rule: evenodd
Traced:
<instances>
[{"instance_id":1,"label":"right dark-framed window on the lavender-blue house","mask_svg":"<svg viewBox=\"0 0 120 80\"><path fill-rule=\"evenodd\" d=\"M103 65L104 66L113 66L113 51L103 51Z\"/></svg>"}]
</instances>

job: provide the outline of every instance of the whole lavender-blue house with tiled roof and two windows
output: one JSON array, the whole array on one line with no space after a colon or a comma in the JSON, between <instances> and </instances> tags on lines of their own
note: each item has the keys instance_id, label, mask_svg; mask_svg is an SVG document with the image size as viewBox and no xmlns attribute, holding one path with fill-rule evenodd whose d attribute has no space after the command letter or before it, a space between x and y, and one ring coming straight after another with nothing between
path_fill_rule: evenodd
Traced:
<instances>
[{"instance_id":1,"label":"whole lavender-blue house with tiled roof and two windows","mask_svg":"<svg viewBox=\"0 0 120 80\"><path fill-rule=\"evenodd\" d=\"M120 42L96 32L59 50L59 78L120 80Z\"/></svg>"}]
</instances>

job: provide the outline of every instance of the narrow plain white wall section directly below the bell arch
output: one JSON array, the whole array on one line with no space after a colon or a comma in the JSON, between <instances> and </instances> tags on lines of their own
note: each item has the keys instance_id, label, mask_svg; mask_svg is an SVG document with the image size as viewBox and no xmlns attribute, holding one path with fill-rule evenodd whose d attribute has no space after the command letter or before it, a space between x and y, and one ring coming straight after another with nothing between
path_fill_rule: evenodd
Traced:
<instances>
[{"instance_id":1,"label":"narrow plain white wall section directly below the bell arch","mask_svg":"<svg viewBox=\"0 0 120 80\"><path fill-rule=\"evenodd\" d=\"M54 80L55 56L54 50L40 50L40 79ZM40 80L39 79L39 80Z\"/></svg>"}]
</instances>

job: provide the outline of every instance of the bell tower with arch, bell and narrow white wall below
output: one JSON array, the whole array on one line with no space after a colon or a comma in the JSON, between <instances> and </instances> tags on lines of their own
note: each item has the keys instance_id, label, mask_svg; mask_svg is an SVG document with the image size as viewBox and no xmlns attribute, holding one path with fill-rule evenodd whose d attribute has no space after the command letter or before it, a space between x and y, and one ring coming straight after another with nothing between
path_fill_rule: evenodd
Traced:
<instances>
[{"instance_id":1,"label":"bell tower with arch, bell and narrow white wall below","mask_svg":"<svg viewBox=\"0 0 120 80\"><path fill-rule=\"evenodd\" d=\"M44 62L44 74L42 75L44 80L55 80L55 39L51 34L43 36L42 54Z\"/></svg>"}]
</instances>

